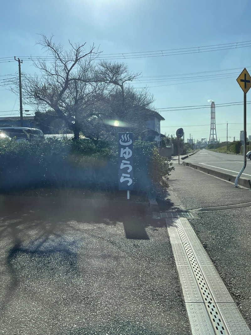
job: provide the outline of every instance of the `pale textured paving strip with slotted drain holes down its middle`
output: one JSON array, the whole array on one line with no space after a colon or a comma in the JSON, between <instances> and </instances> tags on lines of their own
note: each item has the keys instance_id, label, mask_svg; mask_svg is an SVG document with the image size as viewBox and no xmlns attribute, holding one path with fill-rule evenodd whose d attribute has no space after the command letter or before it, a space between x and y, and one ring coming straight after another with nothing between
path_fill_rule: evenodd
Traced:
<instances>
[{"instance_id":1,"label":"pale textured paving strip with slotted drain holes down its middle","mask_svg":"<svg viewBox=\"0 0 251 335\"><path fill-rule=\"evenodd\" d=\"M186 218L166 218L192 334L251 331Z\"/></svg>"}]
</instances>

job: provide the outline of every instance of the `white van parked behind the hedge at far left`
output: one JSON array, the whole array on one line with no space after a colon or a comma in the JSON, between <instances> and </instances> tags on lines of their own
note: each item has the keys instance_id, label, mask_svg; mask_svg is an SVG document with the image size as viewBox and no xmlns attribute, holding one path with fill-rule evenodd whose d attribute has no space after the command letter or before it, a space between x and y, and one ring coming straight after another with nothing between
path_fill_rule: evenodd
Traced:
<instances>
[{"instance_id":1,"label":"white van parked behind the hedge at far left","mask_svg":"<svg viewBox=\"0 0 251 335\"><path fill-rule=\"evenodd\" d=\"M0 137L14 138L16 142L37 141L45 138L40 129L26 127L0 127Z\"/></svg>"}]
</instances>

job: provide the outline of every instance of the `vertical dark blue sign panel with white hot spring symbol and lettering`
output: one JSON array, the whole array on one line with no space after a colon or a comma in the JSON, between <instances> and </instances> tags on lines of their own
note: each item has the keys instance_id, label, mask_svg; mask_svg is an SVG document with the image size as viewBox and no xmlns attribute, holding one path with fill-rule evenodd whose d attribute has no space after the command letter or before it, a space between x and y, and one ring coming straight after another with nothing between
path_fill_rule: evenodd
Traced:
<instances>
[{"instance_id":1,"label":"vertical dark blue sign panel with white hot spring symbol and lettering","mask_svg":"<svg viewBox=\"0 0 251 335\"><path fill-rule=\"evenodd\" d=\"M118 133L118 189L133 190L133 133Z\"/></svg>"}]
</instances>

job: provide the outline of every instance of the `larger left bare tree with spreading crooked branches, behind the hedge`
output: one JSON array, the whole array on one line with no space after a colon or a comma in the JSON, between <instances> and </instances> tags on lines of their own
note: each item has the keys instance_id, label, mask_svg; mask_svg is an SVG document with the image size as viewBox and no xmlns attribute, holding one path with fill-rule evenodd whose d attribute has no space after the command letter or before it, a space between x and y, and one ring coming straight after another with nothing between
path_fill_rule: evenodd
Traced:
<instances>
[{"instance_id":1,"label":"larger left bare tree with spreading crooked branches, behind the hedge","mask_svg":"<svg viewBox=\"0 0 251 335\"><path fill-rule=\"evenodd\" d=\"M40 70L40 75L22 75L22 91L27 104L39 109L53 109L58 118L63 119L74 138L79 138L81 125L88 124L93 115L88 109L108 93L107 84L97 78L93 60L100 52L92 45L88 51L84 44L72 44L71 49L64 50L61 44L55 44L53 37L41 35L38 42L49 52L49 59L38 59L33 65ZM16 82L13 90L18 89Z\"/></svg>"}]
</instances>

